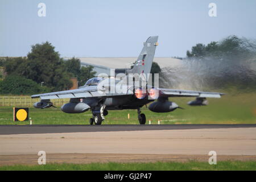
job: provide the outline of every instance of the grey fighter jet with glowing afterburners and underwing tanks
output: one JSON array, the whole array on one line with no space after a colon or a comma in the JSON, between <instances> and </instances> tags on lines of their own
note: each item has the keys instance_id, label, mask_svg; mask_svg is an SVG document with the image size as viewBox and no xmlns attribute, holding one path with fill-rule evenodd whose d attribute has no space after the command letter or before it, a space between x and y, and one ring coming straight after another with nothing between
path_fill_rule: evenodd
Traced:
<instances>
[{"instance_id":1,"label":"grey fighter jet with glowing afterburners and underwing tanks","mask_svg":"<svg viewBox=\"0 0 256 182\"><path fill-rule=\"evenodd\" d=\"M122 109L137 109L139 124L144 125L146 116L141 113L141 107L152 101L154 102L148 106L148 109L156 113L166 113L180 108L175 102L169 101L169 97L196 97L196 100L188 102L188 105L203 106L208 104L207 97L220 98L223 95L217 92L166 89L150 85L145 75L150 73L156 46L158 46L158 36L150 36L144 42L133 68L125 69L122 79L107 76L94 77L78 89L36 94L31 98L40 97L40 102L36 102L34 107L45 109L53 106L52 99L70 98L69 103L61 106L61 110L65 113L92 111L90 125L93 123L101 125L104 117L108 115L108 110ZM144 80L139 80L138 77L135 79L134 75L142 75ZM137 85L135 82L138 80L142 84ZM122 92L120 92L120 85L125 85L121 88ZM110 92L113 90L114 92Z\"/></svg>"}]
</instances>

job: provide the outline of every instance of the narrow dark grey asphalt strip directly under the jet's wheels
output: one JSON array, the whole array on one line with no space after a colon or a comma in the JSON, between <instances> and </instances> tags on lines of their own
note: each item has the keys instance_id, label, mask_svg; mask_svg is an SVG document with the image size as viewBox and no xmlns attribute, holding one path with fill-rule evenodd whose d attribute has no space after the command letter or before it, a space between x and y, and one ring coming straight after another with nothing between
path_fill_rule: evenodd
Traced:
<instances>
[{"instance_id":1,"label":"narrow dark grey asphalt strip directly under the jet's wheels","mask_svg":"<svg viewBox=\"0 0 256 182\"><path fill-rule=\"evenodd\" d=\"M145 130L191 130L230 129L256 127L256 124L238 125L1 125L0 135L77 133L97 131L145 131Z\"/></svg>"}]
</instances>

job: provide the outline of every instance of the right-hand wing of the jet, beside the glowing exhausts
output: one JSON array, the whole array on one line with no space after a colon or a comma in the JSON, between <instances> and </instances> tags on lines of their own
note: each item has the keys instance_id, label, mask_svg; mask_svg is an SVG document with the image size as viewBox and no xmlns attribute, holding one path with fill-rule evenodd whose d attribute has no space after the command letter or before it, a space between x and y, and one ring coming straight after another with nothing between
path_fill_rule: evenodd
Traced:
<instances>
[{"instance_id":1,"label":"right-hand wing of the jet, beside the glowing exhausts","mask_svg":"<svg viewBox=\"0 0 256 182\"><path fill-rule=\"evenodd\" d=\"M164 97L212 97L220 98L224 93L218 92L201 92L192 90L176 90L176 89L163 89L159 88L160 96Z\"/></svg>"}]
</instances>

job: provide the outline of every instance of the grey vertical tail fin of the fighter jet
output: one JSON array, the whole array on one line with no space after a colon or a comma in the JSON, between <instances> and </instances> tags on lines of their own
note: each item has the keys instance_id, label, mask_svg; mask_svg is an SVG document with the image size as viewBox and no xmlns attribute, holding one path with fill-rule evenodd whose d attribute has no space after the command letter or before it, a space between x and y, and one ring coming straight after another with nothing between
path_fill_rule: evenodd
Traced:
<instances>
[{"instance_id":1,"label":"grey vertical tail fin of the fighter jet","mask_svg":"<svg viewBox=\"0 0 256 182\"><path fill-rule=\"evenodd\" d=\"M158 36L150 36L147 41L144 42L144 46L134 67L127 70L127 73L150 73L156 46L158 46Z\"/></svg>"}]
</instances>

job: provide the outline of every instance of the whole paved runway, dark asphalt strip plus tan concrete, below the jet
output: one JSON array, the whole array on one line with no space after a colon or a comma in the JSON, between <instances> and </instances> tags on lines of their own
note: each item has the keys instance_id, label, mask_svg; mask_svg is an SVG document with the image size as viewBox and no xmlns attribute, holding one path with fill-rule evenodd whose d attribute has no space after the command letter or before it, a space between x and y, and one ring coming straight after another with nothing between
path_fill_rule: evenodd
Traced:
<instances>
[{"instance_id":1,"label":"whole paved runway, dark asphalt strip plus tan concrete, below the jet","mask_svg":"<svg viewBox=\"0 0 256 182\"><path fill-rule=\"evenodd\" d=\"M256 125L0 126L0 165L256 160Z\"/></svg>"}]
</instances>

